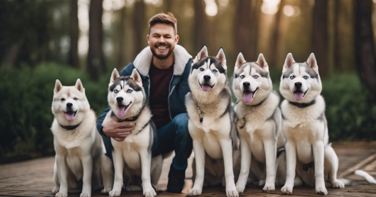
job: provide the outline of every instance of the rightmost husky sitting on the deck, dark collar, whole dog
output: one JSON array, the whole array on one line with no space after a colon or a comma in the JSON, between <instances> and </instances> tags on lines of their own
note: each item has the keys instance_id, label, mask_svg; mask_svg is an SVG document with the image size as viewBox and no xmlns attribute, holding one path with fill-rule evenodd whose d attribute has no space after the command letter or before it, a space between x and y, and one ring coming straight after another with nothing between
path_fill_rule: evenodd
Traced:
<instances>
[{"instance_id":1,"label":"rightmost husky sitting on the deck, dark collar, whole dog","mask_svg":"<svg viewBox=\"0 0 376 197\"><path fill-rule=\"evenodd\" d=\"M337 179L338 157L331 144L325 118L325 102L315 55L304 63L296 63L287 54L279 90L285 100L281 104L282 131L287 139L286 183L281 191L293 192L295 172L304 183L315 185L317 194L327 195L325 180L333 188L344 188Z\"/></svg>"}]
</instances>

